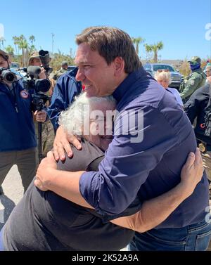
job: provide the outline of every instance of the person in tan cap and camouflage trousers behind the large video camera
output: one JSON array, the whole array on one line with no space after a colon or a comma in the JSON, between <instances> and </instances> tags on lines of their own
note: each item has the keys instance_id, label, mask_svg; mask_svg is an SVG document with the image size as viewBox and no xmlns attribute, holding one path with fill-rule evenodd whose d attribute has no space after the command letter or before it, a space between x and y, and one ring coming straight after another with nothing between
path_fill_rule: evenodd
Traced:
<instances>
[{"instance_id":1,"label":"person in tan cap and camouflage trousers behind the large video camera","mask_svg":"<svg viewBox=\"0 0 211 265\"><path fill-rule=\"evenodd\" d=\"M38 51L34 51L32 53L32 56L30 56L29 59L29 66L39 66L41 67L41 60L39 58L39 53ZM46 79L46 71L44 70L43 67L41 67L41 72L39 74L39 79ZM50 97L53 93L53 86L51 82L51 88L47 92L47 95ZM46 107L49 105L49 101L46 102ZM38 126L37 122L45 122L46 121L46 112L37 112L37 119L34 121L35 125L35 131L37 134L37 139L38 139ZM53 140L54 140L54 131L53 131L53 125L51 124L50 120L47 120L42 127L42 132L41 132L41 150L42 154L46 156L46 154L53 148Z\"/></svg>"}]
</instances>

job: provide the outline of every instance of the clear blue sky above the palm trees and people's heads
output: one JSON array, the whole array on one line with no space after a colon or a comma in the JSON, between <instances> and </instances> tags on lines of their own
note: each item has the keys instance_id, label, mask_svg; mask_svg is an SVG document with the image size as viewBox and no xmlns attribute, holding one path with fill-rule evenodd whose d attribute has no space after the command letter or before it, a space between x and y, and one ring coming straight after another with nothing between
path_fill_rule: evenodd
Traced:
<instances>
[{"instance_id":1,"label":"clear blue sky above the palm trees and people's heads","mask_svg":"<svg viewBox=\"0 0 211 265\"><path fill-rule=\"evenodd\" d=\"M119 27L146 44L162 41L160 59L211 57L211 0L0 0L0 37L34 35L37 50L73 54L75 36L96 25ZM53 46L52 46L52 34ZM139 56L146 58L143 44Z\"/></svg>"}]
</instances>

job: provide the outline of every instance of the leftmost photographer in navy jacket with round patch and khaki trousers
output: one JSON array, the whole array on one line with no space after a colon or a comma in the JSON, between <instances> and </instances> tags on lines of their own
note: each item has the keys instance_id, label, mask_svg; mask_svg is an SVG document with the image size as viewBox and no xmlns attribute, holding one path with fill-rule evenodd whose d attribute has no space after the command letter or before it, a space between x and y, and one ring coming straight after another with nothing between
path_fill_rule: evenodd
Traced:
<instances>
[{"instance_id":1,"label":"leftmost photographer in navy jacket with round patch and khaki trousers","mask_svg":"<svg viewBox=\"0 0 211 265\"><path fill-rule=\"evenodd\" d=\"M0 67L9 69L8 54L0 50ZM8 77L6 77L8 73ZM17 164L24 191L35 176L37 169L37 139L32 112L33 91L23 88L23 82L15 74L0 70L0 186L6 174ZM36 115L37 120L40 117ZM42 118L41 118L42 119ZM0 188L0 194L3 193Z\"/></svg>"}]
</instances>

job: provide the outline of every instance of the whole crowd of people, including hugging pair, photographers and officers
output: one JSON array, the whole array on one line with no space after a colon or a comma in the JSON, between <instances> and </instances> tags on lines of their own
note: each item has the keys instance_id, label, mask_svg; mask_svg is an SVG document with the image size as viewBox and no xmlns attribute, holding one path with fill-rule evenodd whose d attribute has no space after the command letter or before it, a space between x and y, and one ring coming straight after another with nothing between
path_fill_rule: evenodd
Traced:
<instances>
[{"instance_id":1,"label":"whole crowd of people, including hugging pair, photographers and officers","mask_svg":"<svg viewBox=\"0 0 211 265\"><path fill-rule=\"evenodd\" d=\"M39 53L30 57L37 78L51 81L43 110L23 79L0 80L0 185L17 164L25 189L0 250L207 250L209 63L203 72L191 58L179 93L169 71L143 69L122 30L89 27L76 42L77 67L63 62L52 79ZM0 51L0 67L9 63ZM40 164L36 122L44 124Z\"/></svg>"}]
</instances>

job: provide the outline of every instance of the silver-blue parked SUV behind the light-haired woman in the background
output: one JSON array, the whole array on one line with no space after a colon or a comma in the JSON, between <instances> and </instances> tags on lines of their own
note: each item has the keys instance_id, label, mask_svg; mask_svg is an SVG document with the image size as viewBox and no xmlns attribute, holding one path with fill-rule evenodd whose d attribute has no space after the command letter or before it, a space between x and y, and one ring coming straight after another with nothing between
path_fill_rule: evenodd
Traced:
<instances>
[{"instance_id":1,"label":"silver-blue parked SUV behind the light-haired woman in the background","mask_svg":"<svg viewBox=\"0 0 211 265\"><path fill-rule=\"evenodd\" d=\"M172 65L167 65L165 63L146 63L145 65L143 65L143 67L146 72L149 72L152 75L152 77L154 77L155 72L159 69L170 70L172 77L172 83L170 84L170 87L174 87L175 89L179 89L181 81L184 79L183 75L181 75L180 72L174 70L174 67Z\"/></svg>"}]
</instances>

